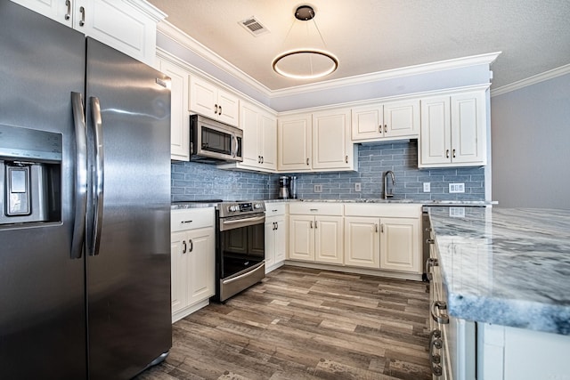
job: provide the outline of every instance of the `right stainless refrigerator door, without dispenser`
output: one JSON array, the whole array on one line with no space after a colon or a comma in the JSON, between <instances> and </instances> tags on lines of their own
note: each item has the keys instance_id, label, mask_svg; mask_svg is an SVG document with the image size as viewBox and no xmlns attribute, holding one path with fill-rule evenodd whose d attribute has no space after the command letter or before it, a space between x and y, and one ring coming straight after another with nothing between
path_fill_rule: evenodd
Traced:
<instances>
[{"instance_id":1,"label":"right stainless refrigerator door, without dispenser","mask_svg":"<svg viewBox=\"0 0 570 380\"><path fill-rule=\"evenodd\" d=\"M89 373L127 379L171 346L170 91L163 74L89 38L86 77Z\"/></svg>"}]
</instances>

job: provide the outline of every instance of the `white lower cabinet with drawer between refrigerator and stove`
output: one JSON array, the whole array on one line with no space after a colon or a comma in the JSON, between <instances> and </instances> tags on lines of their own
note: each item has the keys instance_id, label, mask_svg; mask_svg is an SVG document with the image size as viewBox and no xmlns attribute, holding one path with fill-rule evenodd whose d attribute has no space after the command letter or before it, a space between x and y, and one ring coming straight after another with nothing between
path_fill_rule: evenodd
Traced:
<instances>
[{"instance_id":1,"label":"white lower cabinet with drawer between refrigerator and stove","mask_svg":"<svg viewBox=\"0 0 570 380\"><path fill-rule=\"evenodd\" d=\"M172 321L208 304L215 294L214 207L171 212Z\"/></svg>"}]
</instances>

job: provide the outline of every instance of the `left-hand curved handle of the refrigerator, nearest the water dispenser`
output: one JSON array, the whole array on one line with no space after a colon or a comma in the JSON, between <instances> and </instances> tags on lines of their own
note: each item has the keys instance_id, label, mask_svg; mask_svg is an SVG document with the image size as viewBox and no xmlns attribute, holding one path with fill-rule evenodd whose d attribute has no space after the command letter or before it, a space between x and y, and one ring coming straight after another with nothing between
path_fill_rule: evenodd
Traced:
<instances>
[{"instance_id":1,"label":"left-hand curved handle of the refrigerator, nearest the water dispenser","mask_svg":"<svg viewBox=\"0 0 570 380\"><path fill-rule=\"evenodd\" d=\"M73 123L76 141L75 218L71 238L71 258L81 258L85 240L85 213L87 211L87 134L83 95L71 93Z\"/></svg>"}]
</instances>

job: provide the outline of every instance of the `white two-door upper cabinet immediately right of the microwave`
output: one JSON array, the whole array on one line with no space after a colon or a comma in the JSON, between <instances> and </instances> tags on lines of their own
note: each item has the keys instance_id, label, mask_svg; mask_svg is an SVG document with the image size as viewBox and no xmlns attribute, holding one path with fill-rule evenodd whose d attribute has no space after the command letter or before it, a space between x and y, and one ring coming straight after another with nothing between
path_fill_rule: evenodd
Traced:
<instances>
[{"instance_id":1,"label":"white two-door upper cabinet immediately right of the microwave","mask_svg":"<svg viewBox=\"0 0 570 380\"><path fill-rule=\"evenodd\" d=\"M277 120L245 101L240 102L240 128L243 129L242 168L277 169Z\"/></svg>"}]
</instances>

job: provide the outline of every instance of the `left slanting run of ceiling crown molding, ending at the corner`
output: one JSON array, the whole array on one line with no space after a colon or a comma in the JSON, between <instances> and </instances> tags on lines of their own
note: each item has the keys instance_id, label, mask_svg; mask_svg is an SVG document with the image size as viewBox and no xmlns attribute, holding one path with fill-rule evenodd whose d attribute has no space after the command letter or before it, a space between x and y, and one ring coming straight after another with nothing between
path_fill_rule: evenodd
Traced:
<instances>
[{"instance_id":1,"label":"left slanting run of ceiling crown molding, ending at the corner","mask_svg":"<svg viewBox=\"0 0 570 380\"><path fill-rule=\"evenodd\" d=\"M240 69L236 68L229 61L224 60L220 55L214 53L206 45L200 44L191 36L188 36L181 29L176 28L167 20L162 20L157 25L157 32L167 36L178 44L182 44L186 49L190 50L192 53L199 55L199 57L215 65L218 69L223 70L232 77L237 78L244 84L254 88L259 93L263 93L267 97L271 97L271 90L265 85L260 84L254 78L249 77L248 74L244 73Z\"/></svg>"}]
</instances>

